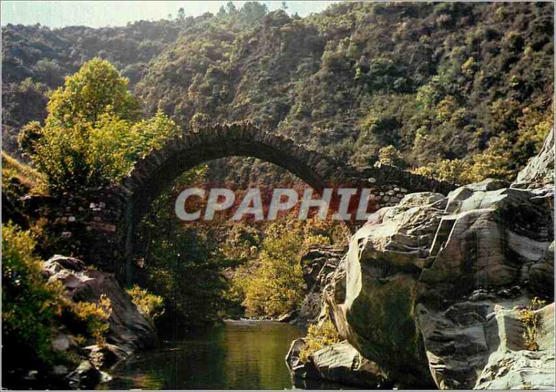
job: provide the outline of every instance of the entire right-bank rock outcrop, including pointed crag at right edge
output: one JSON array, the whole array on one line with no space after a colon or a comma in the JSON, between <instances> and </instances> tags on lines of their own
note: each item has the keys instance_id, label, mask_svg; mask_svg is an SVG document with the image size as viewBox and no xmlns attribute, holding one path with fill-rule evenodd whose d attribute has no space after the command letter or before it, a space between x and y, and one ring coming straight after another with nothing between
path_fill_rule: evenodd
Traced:
<instances>
[{"instance_id":1,"label":"entire right-bank rock outcrop, including pointed crag at right edge","mask_svg":"<svg viewBox=\"0 0 556 392\"><path fill-rule=\"evenodd\" d=\"M554 148L551 132L512 184L413 193L370 215L322 280L318 319L398 386L554 389ZM534 297L551 304L532 328ZM347 364L334 346L300 363L303 344L288 354L295 375Z\"/></svg>"}]
</instances>

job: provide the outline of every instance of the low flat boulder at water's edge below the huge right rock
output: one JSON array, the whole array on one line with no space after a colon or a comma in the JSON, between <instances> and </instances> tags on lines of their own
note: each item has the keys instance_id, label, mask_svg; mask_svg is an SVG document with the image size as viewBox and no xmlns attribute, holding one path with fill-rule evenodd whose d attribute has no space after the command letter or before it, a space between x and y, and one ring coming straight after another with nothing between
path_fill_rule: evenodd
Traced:
<instances>
[{"instance_id":1,"label":"low flat boulder at water's edge below the huge right rock","mask_svg":"<svg viewBox=\"0 0 556 392\"><path fill-rule=\"evenodd\" d=\"M350 343L343 341L325 346L300 361L299 353L305 345L304 338L292 342L286 364L298 379L325 379L330 382L374 387L383 386L384 375L373 362L361 357Z\"/></svg>"}]
</instances>

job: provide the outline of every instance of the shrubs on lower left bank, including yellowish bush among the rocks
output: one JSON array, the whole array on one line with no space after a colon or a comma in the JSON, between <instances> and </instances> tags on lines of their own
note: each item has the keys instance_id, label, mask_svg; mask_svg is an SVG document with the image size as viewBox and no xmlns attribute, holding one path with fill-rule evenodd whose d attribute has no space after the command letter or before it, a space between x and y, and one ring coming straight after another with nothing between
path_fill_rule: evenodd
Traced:
<instances>
[{"instance_id":1,"label":"shrubs on lower left bank, including yellowish bush among the rocks","mask_svg":"<svg viewBox=\"0 0 556 392\"><path fill-rule=\"evenodd\" d=\"M28 388L30 369L44 377L48 373L42 370L54 363L76 366L75 352L54 350L56 333L74 334L83 345L104 344L112 311L105 295L98 304L68 300L59 281L43 276L35 247L33 231L2 224L2 351L10 357L2 364L2 377L15 389Z\"/></svg>"}]
</instances>

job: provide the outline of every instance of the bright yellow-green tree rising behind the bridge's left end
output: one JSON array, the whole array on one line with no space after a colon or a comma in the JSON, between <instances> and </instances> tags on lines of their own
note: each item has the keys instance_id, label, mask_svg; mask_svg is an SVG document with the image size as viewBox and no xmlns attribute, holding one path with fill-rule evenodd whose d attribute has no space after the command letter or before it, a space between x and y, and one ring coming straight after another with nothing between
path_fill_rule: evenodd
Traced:
<instances>
[{"instance_id":1,"label":"bright yellow-green tree rising behind the bridge's left end","mask_svg":"<svg viewBox=\"0 0 556 392\"><path fill-rule=\"evenodd\" d=\"M124 176L138 158L179 133L162 112L134 122L127 80L94 59L51 96L42 129L33 122L20 141L55 192L102 186Z\"/></svg>"}]
</instances>

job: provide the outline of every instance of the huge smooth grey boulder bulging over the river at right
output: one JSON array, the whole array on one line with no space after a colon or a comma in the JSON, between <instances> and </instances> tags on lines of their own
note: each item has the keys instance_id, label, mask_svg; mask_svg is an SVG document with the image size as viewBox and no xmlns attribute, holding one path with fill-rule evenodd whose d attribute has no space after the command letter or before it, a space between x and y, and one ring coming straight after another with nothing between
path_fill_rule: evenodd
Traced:
<instances>
[{"instance_id":1,"label":"huge smooth grey boulder bulging over the river at right","mask_svg":"<svg viewBox=\"0 0 556 392\"><path fill-rule=\"evenodd\" d=\"M496 305L553 301L553 188L505 186L407 195L351 238L345 295L332 288L327 309L401 386L473 388L493 352L485 328Z\"/></svg>"}]
</instances>

